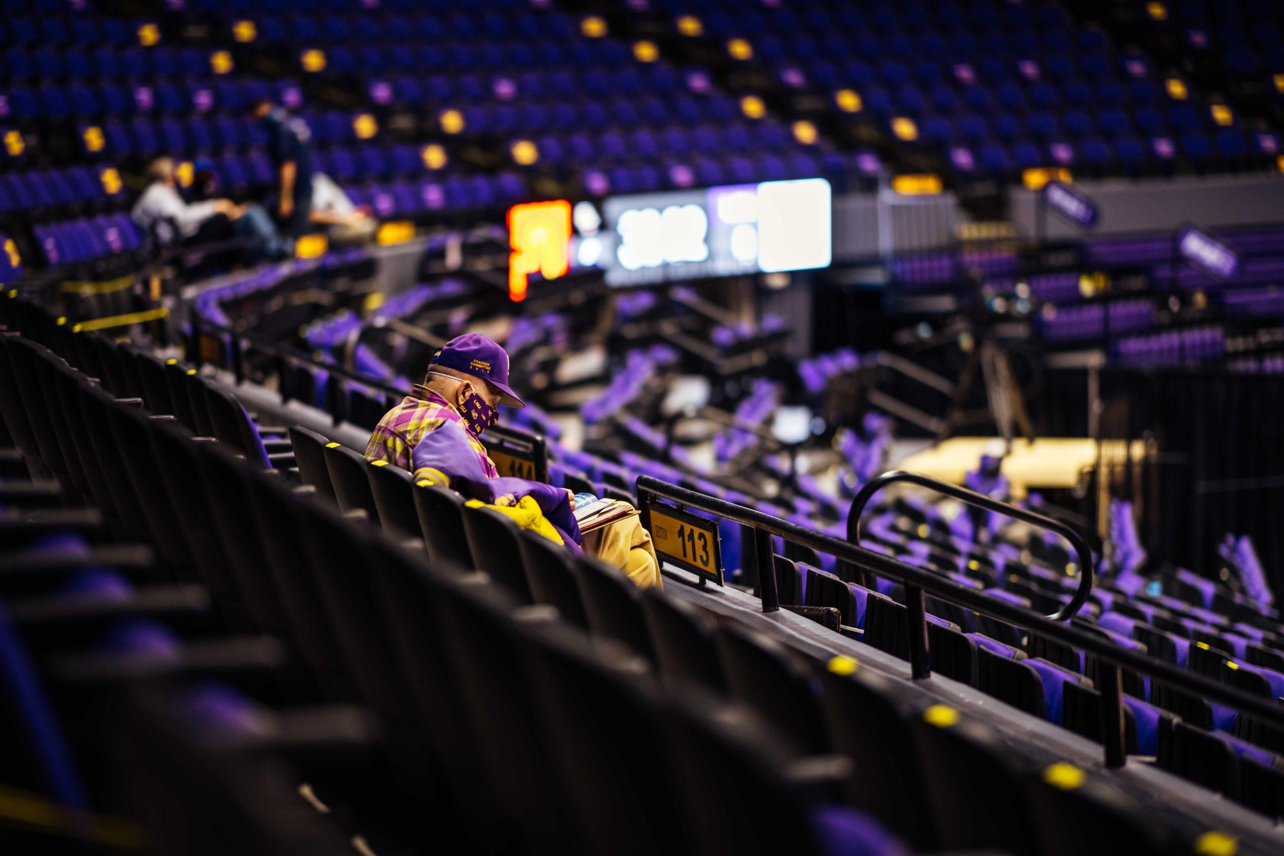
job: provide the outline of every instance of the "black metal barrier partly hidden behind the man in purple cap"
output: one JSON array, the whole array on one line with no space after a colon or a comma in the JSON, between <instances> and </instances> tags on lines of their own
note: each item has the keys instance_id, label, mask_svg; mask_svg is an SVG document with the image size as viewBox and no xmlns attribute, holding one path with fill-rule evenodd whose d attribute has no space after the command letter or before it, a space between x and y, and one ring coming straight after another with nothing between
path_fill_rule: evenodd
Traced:
<instances>
[{"instance_id":1,"label":"black metal barrier partly hidden behind the man in purple cap","mask_svg":"<svg viewBox=\"0 0 1284 856\"><path fill-rule=\"evenodd\" d=\"M218 359L222 348L227 348L226 363ZM279 393L281 403L289 403L298 397L291 389L291 373L288 366L306 366L330 375L336 375L352 384L386 393L395 398L406 395L407 390L374 380L358 371L343 366L322 363L293 348L288 348L279 341L248 331L236 331L221 323L214 323L208 318L202 318L199 313L191 314L191 338L187 340L187 359L193 363L207 362L227 368L232 372L238 384L245 380L245 348L253 348L272 359L276 364L279 379ZM345 417L342 395L338 384L327 384L327 408L334 424L338 425ZM496 468L502 476L517 476L532 481L548 483L548 441L542 434L533 434L507 425L492 425L482 436L482 444L494 461Z\"/></svg>"}]
</instances>

